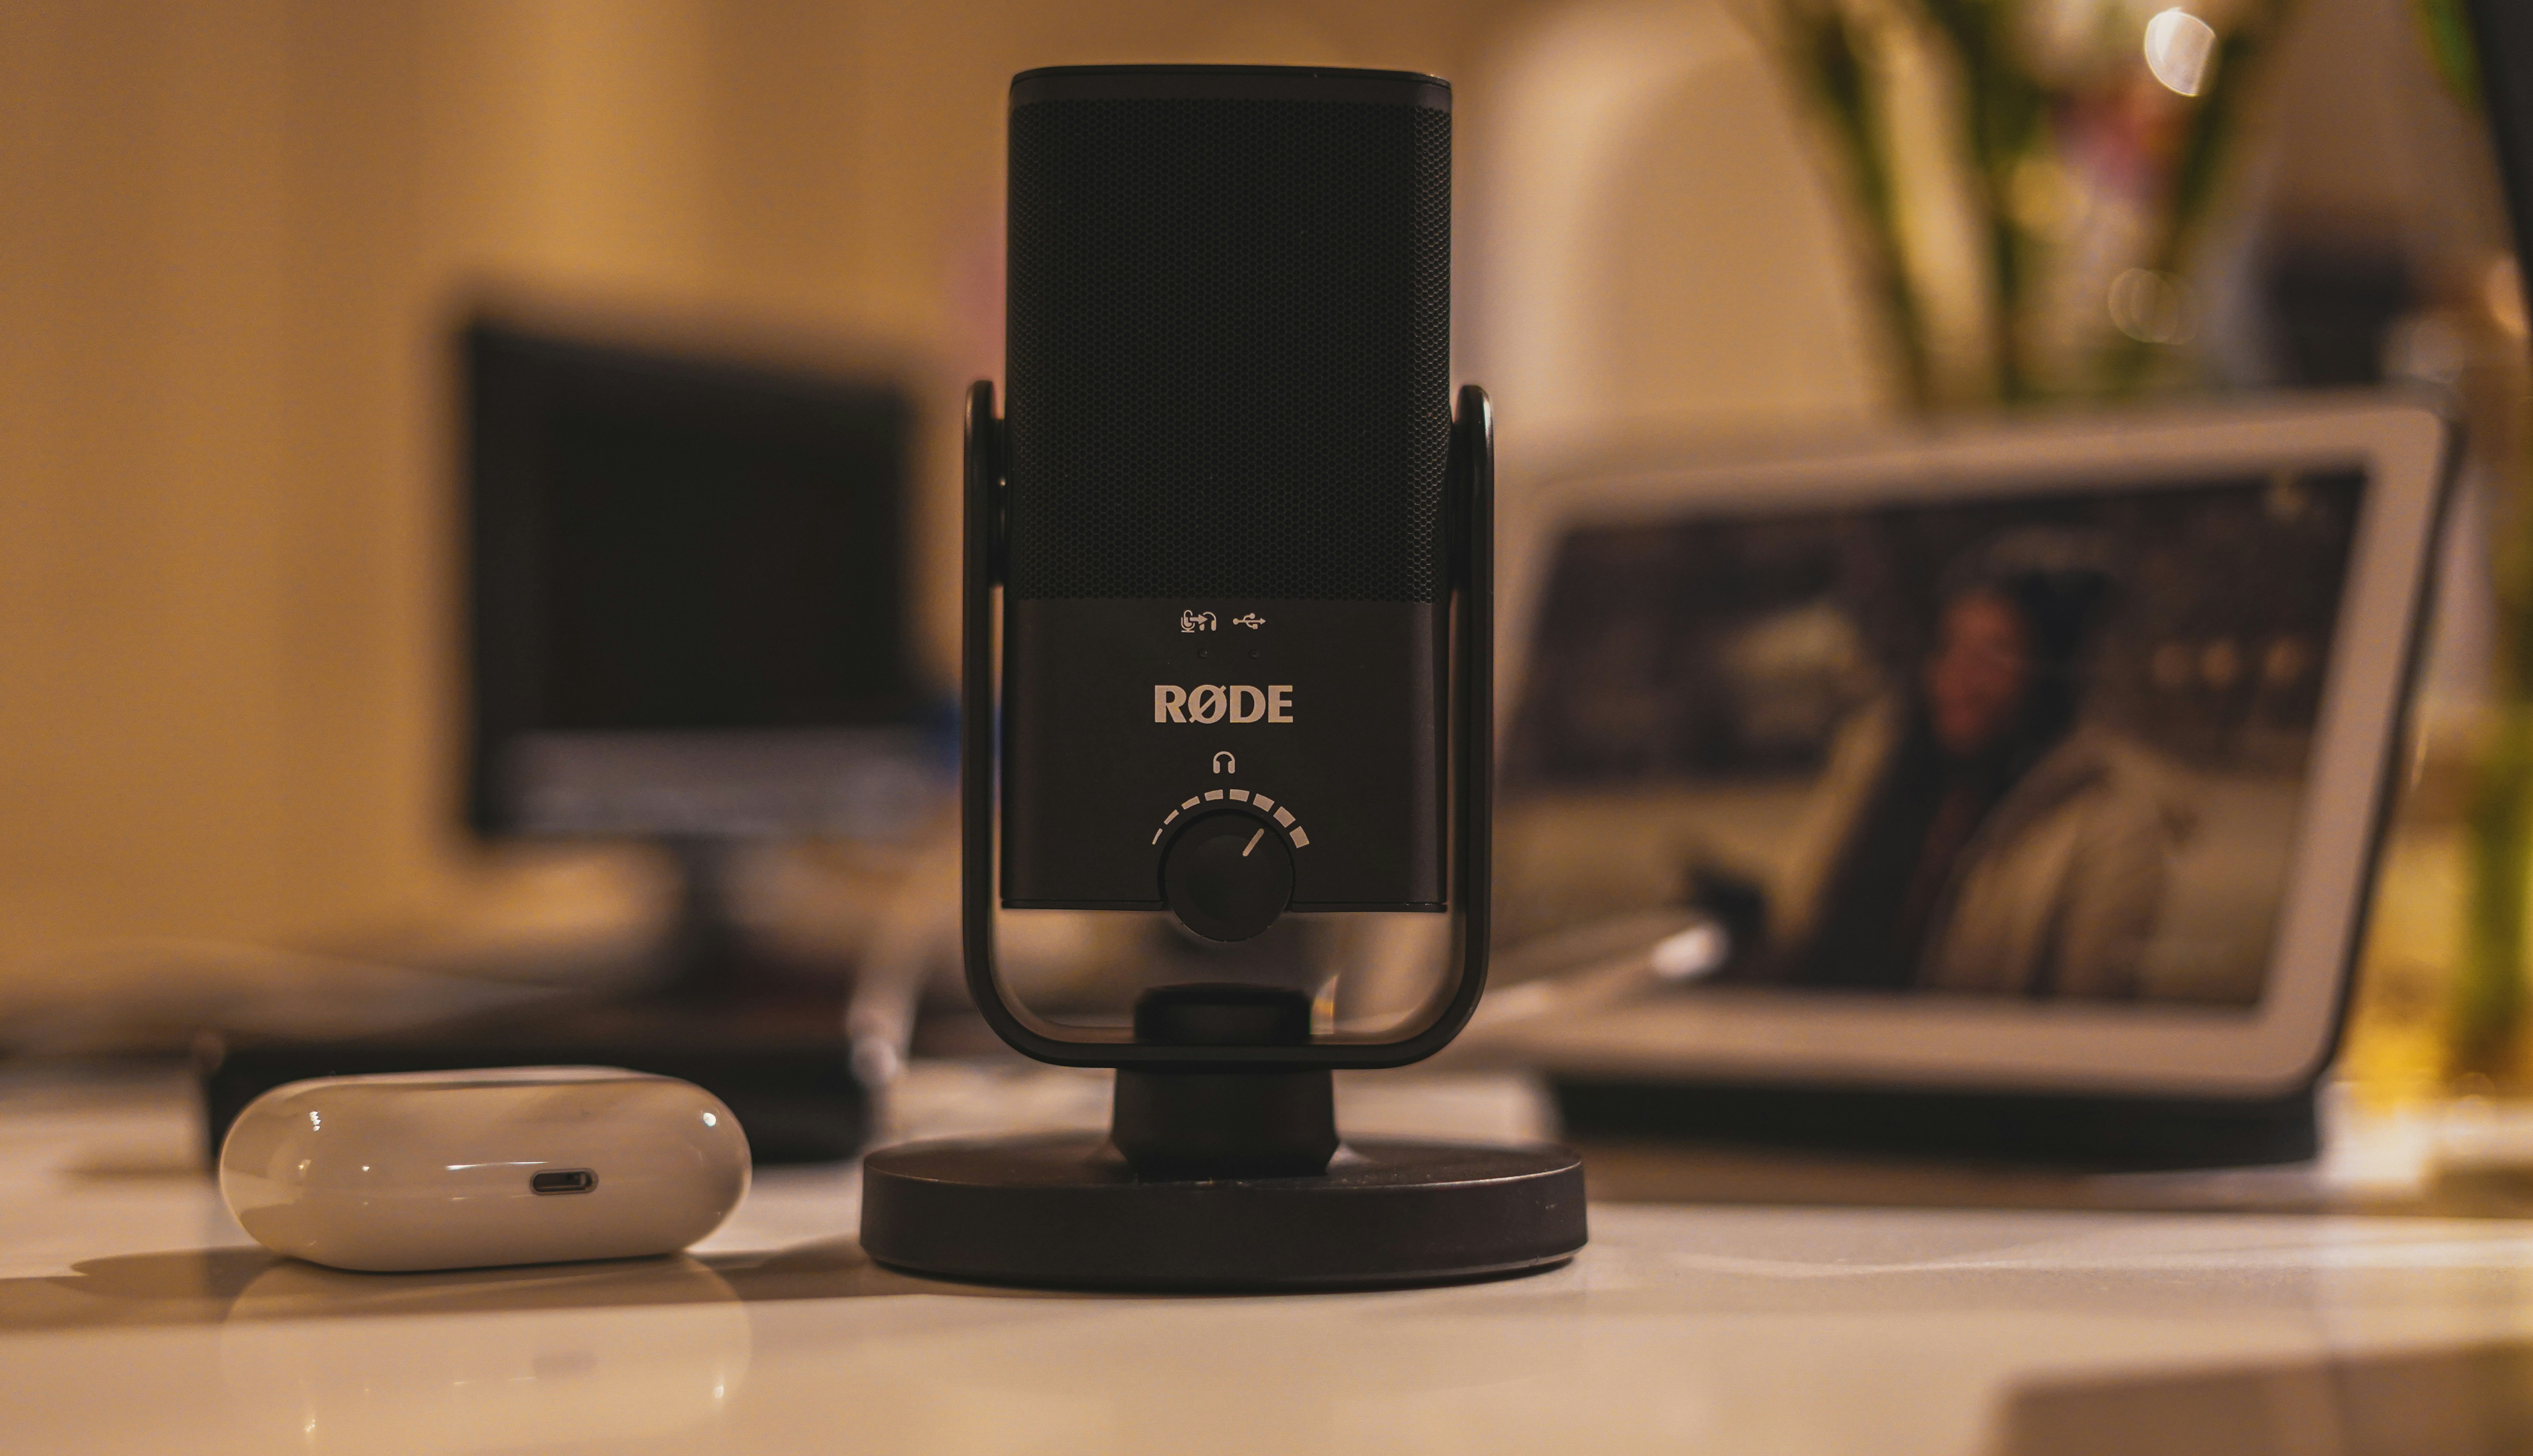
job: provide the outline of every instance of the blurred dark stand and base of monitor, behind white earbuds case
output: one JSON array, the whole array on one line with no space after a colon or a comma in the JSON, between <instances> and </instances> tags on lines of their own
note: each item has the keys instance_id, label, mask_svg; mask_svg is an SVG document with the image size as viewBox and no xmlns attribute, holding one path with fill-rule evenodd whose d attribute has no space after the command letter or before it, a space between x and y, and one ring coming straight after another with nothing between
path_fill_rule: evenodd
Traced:
<instances>
[{"instance_id":1,"label":"blurred dark stand and base of monitor, behind white earbuds case","mask_svg":"<svg viewBox=\"0 0 2533 1456\"><path fill-rule=\"evenodd\" d=\"M560 998L360 1038L205 1036L208 1152L248 1101L286 1081L476 1066L623 1066L719 1096L760 1165L854 1157L871 1096L843 1036L846 985L816 982L750 947L732 914L737 843L666 841L679 863L676 914L646 990Z\"/></svg>"}]
</instances>

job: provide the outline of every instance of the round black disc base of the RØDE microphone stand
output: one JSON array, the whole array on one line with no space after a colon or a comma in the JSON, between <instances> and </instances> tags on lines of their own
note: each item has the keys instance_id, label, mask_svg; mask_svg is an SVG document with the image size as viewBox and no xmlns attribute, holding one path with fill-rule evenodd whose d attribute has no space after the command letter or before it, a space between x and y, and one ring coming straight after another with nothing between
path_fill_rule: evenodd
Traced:
<instances>
[{"instance_id":1,"label":"round black disc base of the R\u00d8DE microphone stand","mask_svg":"<svg viewBox=\"0 0 2533 1456\"><path fill-rule=\"evenodd\" d=\"M1363 1289L1563 1264L1563 1147L1358 1142L1315 1177L1142 1180L1097 1134L909 1142L864 1162L861 1248L909 1274L1059 1289Z\"/></svg>"}]
</instances>

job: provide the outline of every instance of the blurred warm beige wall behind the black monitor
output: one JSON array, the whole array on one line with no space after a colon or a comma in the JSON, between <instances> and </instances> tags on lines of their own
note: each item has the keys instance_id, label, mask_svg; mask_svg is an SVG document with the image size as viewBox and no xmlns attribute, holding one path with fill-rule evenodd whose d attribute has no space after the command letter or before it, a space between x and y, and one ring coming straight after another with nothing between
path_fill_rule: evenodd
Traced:
<instances>
[{"instance_id":1,"label":"blurred warm beige wall behind the black monitor","mask_svg":"<svg viewBox=\"0 0 2533 1456\"><path fill-rule=\"evenodd\" d=\"M1456 73L1500 10L0 5L0 965L327 937L461 894L461 301L922 370L945 565L957 382L998 372L1011 73Z\"/></svg>"}]
</instances>

